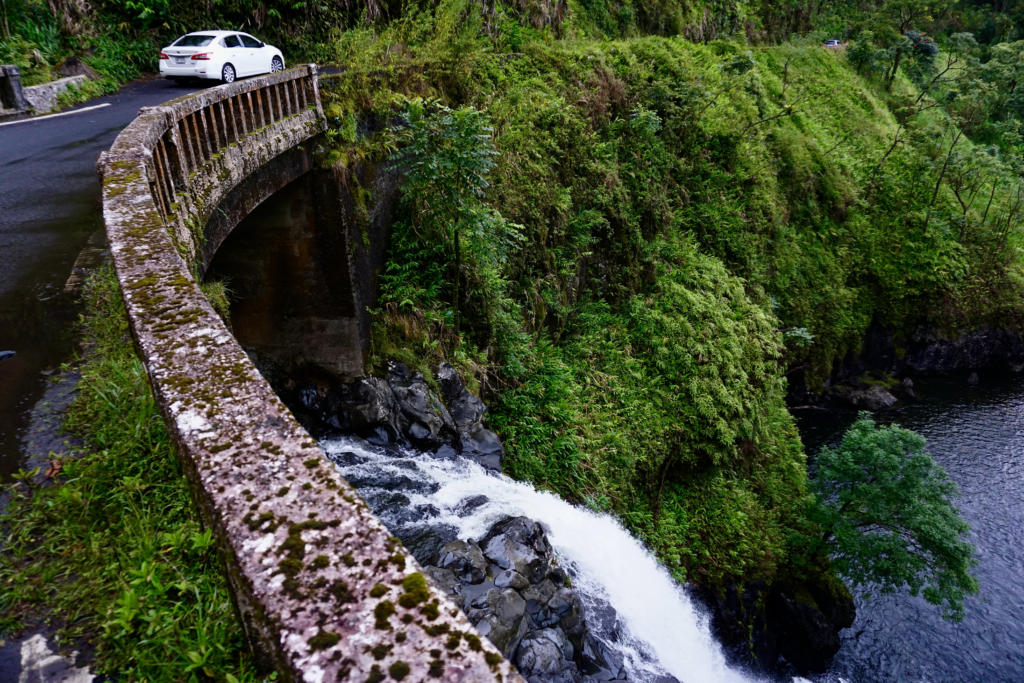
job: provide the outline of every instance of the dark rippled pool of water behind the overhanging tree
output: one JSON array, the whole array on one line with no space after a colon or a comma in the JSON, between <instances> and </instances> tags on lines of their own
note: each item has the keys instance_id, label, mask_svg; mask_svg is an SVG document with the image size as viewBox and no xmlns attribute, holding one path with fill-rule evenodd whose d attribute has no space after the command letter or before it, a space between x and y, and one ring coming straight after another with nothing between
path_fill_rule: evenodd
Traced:
<instances>
[{"instance_id":1,"label":"dark rippled pool of water behind the overhanging tree","mask_svg":"<svg viewBox=\"0 0 1024 683\"><path fill-rule=\"evenodd\" d=\"M924 435L959 485L980 593L952 624L922 598L858 592L857 620L818 680L1024 681L1024 377L919 382L918 396L876 419ZM854 418L801 416L808 453Z\"/></svg>"}]
</instances>

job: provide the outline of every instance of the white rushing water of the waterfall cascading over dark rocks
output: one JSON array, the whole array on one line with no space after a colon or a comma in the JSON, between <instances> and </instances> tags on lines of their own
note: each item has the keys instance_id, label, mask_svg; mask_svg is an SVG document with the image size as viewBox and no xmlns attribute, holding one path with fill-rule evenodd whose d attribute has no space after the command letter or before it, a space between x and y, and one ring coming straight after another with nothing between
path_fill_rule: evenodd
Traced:
<instances>
[{"instance_id":1,"label":"white rushing water of the waterfall cascading over dark rocks","mask_svg":"<svg viewBox=\"0 0 1024 683\"><path fill-rule=\"evenodd\" d=\"M347 437L323 445L336 459L342 454L356 456L349 457L354 464L341 468L346 476L359 478L360 470L370 468L439 486L431 494L402 494L414 506L432 506L436 514L428 521L454 526L462 540L479 539L510 515L542 522L585 607L604 601L617 612L626 634L612 645L625 656L631 680L656 679L664 672L685 683L751 680L726 665L707 616L612 517L487 473L462 459L385 452ZM479 502L481 495L486 502L467 512L467 499Z\"/></svg>"}]
</instances>

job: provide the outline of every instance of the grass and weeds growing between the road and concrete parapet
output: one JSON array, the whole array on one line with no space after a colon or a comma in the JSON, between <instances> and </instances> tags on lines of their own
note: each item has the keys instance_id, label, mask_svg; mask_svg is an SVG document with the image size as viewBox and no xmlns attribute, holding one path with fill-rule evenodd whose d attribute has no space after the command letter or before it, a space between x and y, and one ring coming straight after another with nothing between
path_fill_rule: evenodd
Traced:
<instances>
[{"instance_id":1,"label":"grass and weeds growing between the road and concrete parapet","mask_svg":"<svg viewBox=\"0 0 1024 683\"><path fill-rule=\"evenodd\" d=\"M133 351L117 281L93 275L87 354L69 416L81 449L0 515L0 633L47 625L124 680L254 680L209 530Z\"/></svg>"}]
</instances>

